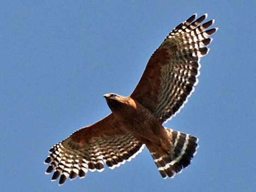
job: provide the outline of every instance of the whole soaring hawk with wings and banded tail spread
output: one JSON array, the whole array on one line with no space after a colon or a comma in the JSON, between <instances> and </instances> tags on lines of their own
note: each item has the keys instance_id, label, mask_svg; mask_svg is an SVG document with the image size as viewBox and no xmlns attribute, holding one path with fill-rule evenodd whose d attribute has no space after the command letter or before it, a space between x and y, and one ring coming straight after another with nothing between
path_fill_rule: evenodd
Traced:
<instances>
[{"instance_id":1,"label":"whole soaring hawk with wings and banded tail spread","mask_svg":"<svg viewBox=\"0 0 256 192\"><path fill-rule=\"evenodd\" d=\"M192 15L164 39L148 61L130 96L106 94L111 114L74 132L50 149L45 159L52 181L83 178L88 171L114 169L146 146L163 178L174 177L190 165L198 139L163 127L187 102L198 83L200 58L209 52L208 15Z\"/></svg>"}]
</instances>

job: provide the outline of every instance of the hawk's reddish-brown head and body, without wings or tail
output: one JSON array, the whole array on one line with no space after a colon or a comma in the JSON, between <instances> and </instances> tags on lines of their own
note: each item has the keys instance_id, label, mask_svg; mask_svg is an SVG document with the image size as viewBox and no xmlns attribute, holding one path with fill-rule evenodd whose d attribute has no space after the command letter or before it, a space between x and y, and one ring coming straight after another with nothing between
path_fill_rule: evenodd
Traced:
<instances>
[{"instance_id":1,"label":"hawk's reddish-brown head and body, without wings or tail","mask_svg":"<svg viewBox=\"0 0 256 192\"><path fill-rule=\"evenodd\" d=\"M106 94L104 97L113 116L120 123L123 123L127 132L132 133L138 141L146 144L149 149L158 148L159 151L169 153L172 149L169 142L170 135L162 123L147 108L131 97L115 94Z\"/></svg>"}]
</instances>

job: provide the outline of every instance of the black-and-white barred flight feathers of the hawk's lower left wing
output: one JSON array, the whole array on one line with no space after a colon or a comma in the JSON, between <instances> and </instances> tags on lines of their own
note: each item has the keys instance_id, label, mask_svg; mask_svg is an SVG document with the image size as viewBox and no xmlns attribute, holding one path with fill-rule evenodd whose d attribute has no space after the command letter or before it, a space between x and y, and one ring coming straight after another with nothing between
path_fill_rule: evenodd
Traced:
<instances>
[{"instance_id":1,"label":"black-and-white barred flight feathers of the hawk's lower left wing","mask_svg":"<svg viewBox=\"0 0 256 192\"><path fill-rule=\"evenodd\" d=\"M102 172L104 164L114 169L135 158L143 148L144 145L132 134L99 137L83 146L67 138L50 149L50 155L45 159L46 164L50 163L46 174L54 170L52 181L60 177L61 185L67 178L85 177L88 171Z\"/></svg>"}]
</instances>

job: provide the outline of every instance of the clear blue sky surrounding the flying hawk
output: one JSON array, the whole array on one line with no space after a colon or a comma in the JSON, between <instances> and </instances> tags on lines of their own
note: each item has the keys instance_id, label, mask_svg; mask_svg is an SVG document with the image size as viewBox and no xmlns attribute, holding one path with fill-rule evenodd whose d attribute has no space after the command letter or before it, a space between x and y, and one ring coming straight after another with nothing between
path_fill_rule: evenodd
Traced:
<instances>
[{"instance_id":1,"label":"clear blue sky surrounding the flying hawk","mask_svg":"<svg viewBox=\"0 0 256 192\"><path fill-rule=\"evenodd\" d=\"M193 13L215 18L196 91L165 126L196 135L193 162L162 179L147 149L61 187L48 150L129 95L150 55ZM255 191L255 1L1 1L1 191Z\"/></svg>"}]
</instances>

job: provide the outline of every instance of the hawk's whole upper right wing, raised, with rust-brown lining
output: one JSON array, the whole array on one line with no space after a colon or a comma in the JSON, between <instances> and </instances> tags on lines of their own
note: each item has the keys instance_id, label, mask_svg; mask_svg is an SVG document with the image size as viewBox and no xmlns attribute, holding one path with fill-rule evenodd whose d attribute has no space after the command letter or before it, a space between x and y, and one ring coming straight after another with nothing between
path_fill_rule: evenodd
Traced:
<instances>
[{"instance_id":1,"label":"hawk's whole upper right wing, raised, with rust-brown lining","mask_svg":"<svg viewBox=\"0 0 256 192\"><path fill-rule=\"evenodd\" d=\"M208 29L214 20L202 24L207 14L196 17L192 15L169 33L131 94L161 122L178 113L194 91L200 58L209 52L209 36L217 30Z\"/></svg>"}]
</instances>

